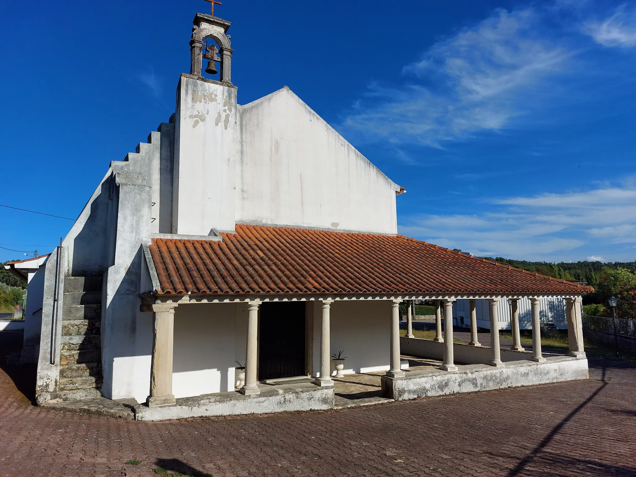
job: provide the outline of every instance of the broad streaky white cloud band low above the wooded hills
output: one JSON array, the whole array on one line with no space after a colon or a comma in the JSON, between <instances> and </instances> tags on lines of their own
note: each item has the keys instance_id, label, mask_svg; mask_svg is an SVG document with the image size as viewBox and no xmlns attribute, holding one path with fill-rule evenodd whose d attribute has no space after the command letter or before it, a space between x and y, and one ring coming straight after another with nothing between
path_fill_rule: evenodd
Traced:
<instances>
[{"instance_id":1,"label":"broad streaky white cloud band low above the wooded hills","mask_svg":"<svg viewBox=\"0 0 636 477\"><path fill-rule=\"evenodd\" d=\"M636 243L632 180L590 191L490 200L480 215L411 217L401 233L481 256L550 259ZM588 252L589 254L589 252Z\"/></svg>"}]
</instances>

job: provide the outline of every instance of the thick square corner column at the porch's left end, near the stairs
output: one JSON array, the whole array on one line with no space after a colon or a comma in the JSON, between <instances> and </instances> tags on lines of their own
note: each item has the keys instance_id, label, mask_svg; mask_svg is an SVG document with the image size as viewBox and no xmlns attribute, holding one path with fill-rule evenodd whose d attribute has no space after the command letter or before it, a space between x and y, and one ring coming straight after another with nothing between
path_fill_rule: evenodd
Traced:
<instances>
[{"instance_id":1,"label":"thick square corner column at the porch's left end, near the stairs","mask_svg":"<svg viewBox=\"0 0 636 477\"><path fill-rule=\"evenodd\" d=\"M172 345L174 338L174 308L177 305L156 303L153 308L153 356L150 365L149 408L173 406Z\"/></svg>"}]
</instances>

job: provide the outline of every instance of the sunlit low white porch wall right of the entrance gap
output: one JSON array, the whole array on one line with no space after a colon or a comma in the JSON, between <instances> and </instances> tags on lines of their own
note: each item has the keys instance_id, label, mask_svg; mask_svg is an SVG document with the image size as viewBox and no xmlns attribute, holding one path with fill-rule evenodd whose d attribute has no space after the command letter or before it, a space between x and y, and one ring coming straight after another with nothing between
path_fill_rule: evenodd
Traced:
<instances>
[{"instance_id":1,"label":"sunlit low white porch wall right of the entrance gap","mask_svg":"<svg viewBox=\"0 0 636 477\"><path fill-rule=\"evenodd\" d=\"M406 377L382 377L382 392L396 401L459 392L491 391L588 378L588 360L548 357L545 363L513 361L501 368L487 364L460 366L459 371L410 371Z\"/></svg>"}]
</instances>

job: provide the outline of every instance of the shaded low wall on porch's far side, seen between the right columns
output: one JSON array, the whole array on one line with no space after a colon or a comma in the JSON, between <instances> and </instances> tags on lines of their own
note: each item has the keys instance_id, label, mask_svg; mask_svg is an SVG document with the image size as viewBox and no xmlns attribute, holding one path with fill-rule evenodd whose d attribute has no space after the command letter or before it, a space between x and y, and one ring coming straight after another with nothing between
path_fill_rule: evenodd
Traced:
<instances>
[{"instance_id":1,"label":"shaded low wall on porch's far side, seen between the right columns","mask_svg":"<svg viewBox=\"0 0 636 477\"><path fill-rule=\"evenodd\" d=\"M401 354L409 356L430 357L433 359L444 359L444 343L438 343L432 340L424 340L423 338L399 338L399 347ZM492 359L489 346L471 346L462 343L453 343L453 354L455 363L466 364L484 364ZM513 351L501 348L501 361L508 363L510 361L520 361L521 359L529 359L532 356L530 351Z\"/></svg>"}]
</instances>

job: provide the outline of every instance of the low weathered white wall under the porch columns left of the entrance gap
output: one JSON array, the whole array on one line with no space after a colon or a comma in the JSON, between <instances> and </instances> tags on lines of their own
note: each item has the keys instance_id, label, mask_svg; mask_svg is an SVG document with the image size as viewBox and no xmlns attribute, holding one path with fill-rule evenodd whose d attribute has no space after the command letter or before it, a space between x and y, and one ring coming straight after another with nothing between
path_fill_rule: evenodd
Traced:
<instances>
[{"instance_id":1,"label":"low weathered white wall under the porch columns left of the entrance gap","mask_svg":"<svg viewBox=\"0 0 636 477\"><path fill-rule=\"evenodd\" d=\"M135 406L136 420L180 419L186 417L265 414L287 411L333 409L333 387L310 383L284 384L261 388L261 394L244 396L238 392L220 392L196 397L181 397L175 406L148 408Z\"/></svg>"}]
</instances>

